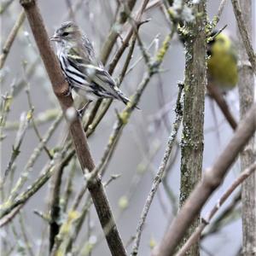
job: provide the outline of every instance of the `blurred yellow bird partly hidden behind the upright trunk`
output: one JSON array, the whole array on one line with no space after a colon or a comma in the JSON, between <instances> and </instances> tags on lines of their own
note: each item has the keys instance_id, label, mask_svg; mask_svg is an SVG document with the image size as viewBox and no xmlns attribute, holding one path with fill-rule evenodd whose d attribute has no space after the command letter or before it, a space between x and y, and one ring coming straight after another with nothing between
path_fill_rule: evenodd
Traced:
<instances>
[{"instance_id":1,"label":"blurred yellow bird partly hidden behind the upright trunk","mask_svg":"<svg viewBox=\"0 0 256 256\"><path fill-rule=\"evenodd\" d=\"M224 32L213 32L207 44L207 77L222 93L236 87L238 81L237 52Z\"/></svg>"}]
</instances>

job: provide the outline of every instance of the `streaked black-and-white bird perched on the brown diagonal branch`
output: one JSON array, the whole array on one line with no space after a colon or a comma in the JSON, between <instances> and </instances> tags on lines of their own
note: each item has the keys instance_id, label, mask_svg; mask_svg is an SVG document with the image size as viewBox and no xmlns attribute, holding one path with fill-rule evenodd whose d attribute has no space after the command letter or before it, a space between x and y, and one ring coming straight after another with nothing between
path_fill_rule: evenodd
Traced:
<instances>
[{"instance_id":1,"label":"streaked black-and-white bird perched on the brown diagonal branch","mask_svg":"<svg viewBox=\"0 0 256 256\"><path fill-rule=\"evenodd\" d=\"M85 96L88 104L96 99L117 99L127 105L129 98L119 90L116 82L96 60L95 51L89 38L73 21L66 21L55 30L54 41L61 69L67 78L69 90L74 89L80 96ZM84 108L80 109L84 111Z\"/></svg>"}]
</instances>

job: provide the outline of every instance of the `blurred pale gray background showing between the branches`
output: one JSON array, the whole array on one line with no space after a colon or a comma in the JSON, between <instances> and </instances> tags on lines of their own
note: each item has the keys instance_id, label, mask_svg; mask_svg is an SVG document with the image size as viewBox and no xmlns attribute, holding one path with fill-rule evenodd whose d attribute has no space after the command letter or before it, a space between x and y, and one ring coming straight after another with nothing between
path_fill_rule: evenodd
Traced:
<instances>
[{"instance_id":1,"label":"blurred pale gray background showing between the branches","mask_svg":"<svg viewBox=\"0 0 256 256\"><path fill-rule=\"evenodd\" d=\"M75 3L75 1L72 2ZM141 3L141 1L137 2ZM213 15L217 13L219 2L220 1L213 0L208 1L207 9L209 19L212 19ZM90 40L93 41L96 54L99 54L104 38L108 34L111 24L110 22L113 20L115 4L116 1L113 0L84 0L81 8L76 11L76 20L79 23L79 26L81 26L84 32L86 32ZM64 21L63 18L67 16L66 1L39 0L38 5L44 17L44 22L49 35L52 35L55 28L60 26L61 22ZM138 4L136 9L137 7ZM21 8L18 1L15 1L15 3L11 4L9 10L2 15L1 37L3 41L9 34L11 27L14 25L20 10ZM144 15L144 18L151 19L150 22L143 25L140 30L144 44L149 45L157 34L159 35L159 41L162 42L168 32L168 26L160 10L150 9L146 15ZM218 23L218 28L221 28L226 24L228 25L226 30L229 31L232 38L236 40L236 20L229 1L224 8L224 13ZM120 45L120 41L118 43ZM113 53L116 49L117 48L113 50ZM154 46L152 47L151 52L154 52ZM2 94L5 94L5 92L9 90L9 86L14 82L14 79L19 80L22 78L22 61L26 61L28 66L37 58L37 55L38 49L36 48L31 30L26 21L25 25L20 29L18 37L15 39L13 49L11 50L5 67L2 70L4 76L1 84ZM137 58L140 55L140 51L136 46L131 65L137 61ZM122 61L124 61L124 59L125 58L122 58ZM109 60L111 60L111 58ZM119 65L115 70L113 77L119 75L121 67L122 66ZM144 69L145 66L143 61L141 61L125 78L125 81L122 84L122 90L126 95L131 96L131 94L136 90L137 84L143 78ZM108 186L107 193L113 212L117 217L119 231L125 242L129 241L131 236L134 236L136 233L140 213L142 212L143 205L148 196L149 189L151 188L154 173L160 165L160 160L166 147L167 137L170 130L168 131L168 129L166 129L165 121L161 113L166 112L164 116L167 123L172 124L173 122L173 108L175 108L177 96L177 81L183 80L184 70L183 46L177 39L172 41L171 48L166 55L162 69L163 73L155 76L154 79L150 81L141 101L139 102L139 107L142 111L134 111L130 122L125 126L123 135L113 154L113 159L108 166L107 173L103 177L103 180L106 181L112 174L121 174L119 179L113 181L113 183ZM36 68L36 72L29 82L31 86L32 103L35 107L35 116L49 108L58 108L58 103L53 95L49 79L47 78L42 63ZM162 101L163 98L160 95L161 90L162 95L164 95L165 102ZM237 90L232 90L227 95L227 101L230 103L232 113L234 113L236 119L239 119ZM166 108L163 109L162 107L164 104ZM113 102L112 107L102 120L102 123L98 126L95 134L90 137L90 148L96 163L100 160L105 145L108 143L109 134L113 129L113 123L116 119L114 108L121 110L123 107L122 103ZM214 108L217 115L218 124L214 121L212 108ZM25 90L21 90L11 105L8 122L17 121L20 119L20 113L22 111L27 111L28 109L26 92ZM218 126L218 129L216 129L216 126ZM49 123L39 126L41 135L44 135L44 132L47 131L48 127ZM65 123L62 121L61 127L59 127L48 143L49 148L54 147L55 144L60 141L61 136L65 131L64 127ZM212 165L212 162L230 140L230 137L232 137L232 130L230 129L230 126L224 120L224 116L219 112L216 104L212 103L208 97L206 98L205 130L203 166L204 168L207 168ZM9 156L15 139L15 131L5 131L4 133L7 137L3 140L1 147L2 170L6 168L9 162ZM26 133L24 143L22 143L21 146L20 155L16 161L17 175L23 170L29 155L32 154L33 148L37 145L38 137L36 137L35 132L30 129ZM158 153L155 154L150 168L148 168L147 172L144 173L141 182L137 186L136 190L134 190L131 201L129 201L129 207L125 212L120 214L119 199L123 195L127 194L127 191L131 187L131 181L137 173L138 166L142 166L145 161L147 162L148 152L150 150L152 151L154 147L157 147L157 145L160 145L160 149ZM174 156L172 156L172 158L173 157ZM170 170L168 170L168 184L177 198L179 189L179 159L180 155L178 151L174 164L171 166ZM48 160L48 158L46 154L43 153L34 166L27 185L32 183L32 181L38 177L38 174L41 172L46 160ZM65 172L68 172L69 168L67 167L65 170ZM204 207L202 216L205 216L206 212L212 208L213 204L218 200L219 195L224 192L224 189L227 188L227 185L237 176L238 172L240 172L240 168L239 164L236 163L225 178L224 183L212 196L211 200L208 201L207 206ZM81 175L79 164L74 178L74 183L76 184L75 189L81 188L84 184L84 180ZM32 211L34 209L38 209L44 212L45 203L48 200L49 183L44 185L44 188L40 189L37 195L34 195L24 208L26 213L26 223L29 224L29 226L26 226L26 229L29 237L33 241L34 252L38 251L38 245L41 243L41 237L39 235L42 230L44 230L45 225L44 221L41 218L38 218L38 216L36 216ZM224 207L228 204L229 202L226 203ZM99 226L96 212L93 207L91 207L90 211L90 221L93 228L92 236L96 237L97 241L100 241L92 255L109 255L107 243L104 240L101 241L102 230ZM150 241L155 241L156 243L159 242L166 230L167 224L169 224L170 221L172 221L172 207L170 207L170 201L166 196L163 186L160 185L160 191L154 198L153 205L150 208L147 222L143 230L139 255L149 255ZM1 236L6 236L6 233L2 231ZM80 236L80 241L84 239L84 236L84 234ZM220 232L218 232L218 234L207 237L207 239L202 242L202 247L201 255L236 255L241 247L241 219L237 218L231 224L227 224ZM131 247L128 247L128 251L130 250ZM13 255L18 254L19 253Z\"/></svg>"}]
</instances>

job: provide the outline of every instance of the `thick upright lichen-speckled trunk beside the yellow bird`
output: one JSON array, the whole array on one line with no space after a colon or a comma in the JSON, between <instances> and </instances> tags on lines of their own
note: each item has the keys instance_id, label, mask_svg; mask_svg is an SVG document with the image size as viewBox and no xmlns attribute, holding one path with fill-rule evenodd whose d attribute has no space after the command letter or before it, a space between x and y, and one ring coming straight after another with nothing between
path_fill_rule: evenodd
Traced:
<instances>
[{"instance_id":1,"label":"thick upright lichen-speckled trunk beside the yellow bird","mask_svg":"<svg viewBox=\"0 0 256 256\"><path fill-rule=\"evenodd\" d=\"M195 6L198 15L187 24L189 35L185 38L186 70L184 82L183 138L181 143L180 206L189 197L195 184L201 179L203 158L203 127L205 90L207 86L206 67L206 1ZM189 228L185 242L199 223L200 215ZM190 248L188 255L198 255L198 246Z\"/></svg>"}]
</instances>

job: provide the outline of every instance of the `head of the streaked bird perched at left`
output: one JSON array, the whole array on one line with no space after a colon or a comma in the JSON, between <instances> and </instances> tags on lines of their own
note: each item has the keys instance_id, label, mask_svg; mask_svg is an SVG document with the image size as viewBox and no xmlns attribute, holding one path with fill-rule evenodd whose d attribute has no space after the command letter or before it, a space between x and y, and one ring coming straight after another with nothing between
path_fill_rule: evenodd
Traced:
<instances>
[{"instance_id":1,"label":"head of the streaked bird perched at left","mask_svg":"<svg viewBox=\"0 0 256 256\"><path fill-rule=\"evenodd\" d=\"M55 31L53 37L49 38L50 41L55 41L57 44L67 45L78 43L82 38L79 26L73 21L67 21Z\"/></svg>"}]
</instances>

